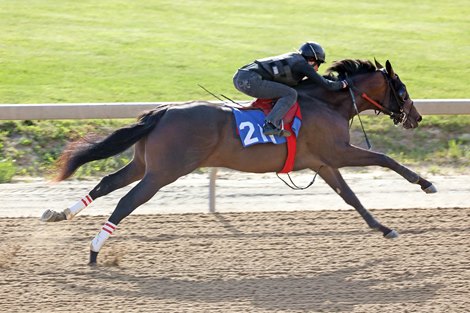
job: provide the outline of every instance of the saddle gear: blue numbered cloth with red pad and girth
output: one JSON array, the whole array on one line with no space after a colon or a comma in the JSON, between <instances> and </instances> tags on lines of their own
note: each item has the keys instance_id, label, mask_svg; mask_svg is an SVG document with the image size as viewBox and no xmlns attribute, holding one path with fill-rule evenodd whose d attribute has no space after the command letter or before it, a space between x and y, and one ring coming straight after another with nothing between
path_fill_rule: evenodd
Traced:
<instances>
[{"instance_id":1,"label":"saddle gear: blue numbered cloth with red pad and girth","mask_svg":"<svg viewBox=\"0 0 470 313\"><path fill-rule=\"evenodd\" d=\"M302 124L302 115L299 104L296 102L283 118L284 128L293 135L287 138L274 135L266 136L263 134L264 118L272 110L273 104L273 99L256 99L249 106L242 109L233 108L232 111L243 147L262 143L283 144L287 142L287 158L279 173L289 173L294 167L297 136Z\"/></svg>"}]
</instances>

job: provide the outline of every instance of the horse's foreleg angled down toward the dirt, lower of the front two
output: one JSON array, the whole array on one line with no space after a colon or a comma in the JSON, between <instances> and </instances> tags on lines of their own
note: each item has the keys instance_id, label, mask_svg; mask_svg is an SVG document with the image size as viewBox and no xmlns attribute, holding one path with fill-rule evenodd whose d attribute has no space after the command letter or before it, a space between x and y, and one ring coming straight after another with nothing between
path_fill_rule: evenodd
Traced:
<instances>
[{"instance_id":1,"label":"horse's foreleg angled down toward the dirt, lower of the front two","mask_svg":"<svg viewBox=\"0 0 470 313\"><path fill-rule=\"evenodd\" d=\"M341 197L343 200L354 207L356 211L366 221L367 225L374 230L381 231L386 238L396 238L398 233L384 225L361 204L354 192L349 188L348 184L344 181L341 173L334 168L323 166L318 174L323 180Z\"/></svg>"}]
</instances>

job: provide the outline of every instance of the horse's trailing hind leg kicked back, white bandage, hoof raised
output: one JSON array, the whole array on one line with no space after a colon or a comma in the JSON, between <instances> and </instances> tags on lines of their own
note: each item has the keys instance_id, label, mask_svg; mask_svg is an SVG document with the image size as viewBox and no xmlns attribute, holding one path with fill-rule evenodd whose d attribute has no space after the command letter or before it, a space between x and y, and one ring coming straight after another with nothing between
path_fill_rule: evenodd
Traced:
<instances>
[{"instance_id":1,"label":"horse's trailing hind leg kicked back, white bandage, hoof raised","mask_svg":"<svg viewBox=\"0 0 470 313\"><path fill-rule=\"evenodd\" d=\"M140 141L136 144L134 158L126 166L103 177L87 195L80 198L79 201L66 208L64 211L57 212L54 210L46 210L41 217L41 221L59 222L71 220L96 199L141 179L145 172L145 161L143 158L145 151L144 143L144 141Z\"/></svg>"}]
</instances>

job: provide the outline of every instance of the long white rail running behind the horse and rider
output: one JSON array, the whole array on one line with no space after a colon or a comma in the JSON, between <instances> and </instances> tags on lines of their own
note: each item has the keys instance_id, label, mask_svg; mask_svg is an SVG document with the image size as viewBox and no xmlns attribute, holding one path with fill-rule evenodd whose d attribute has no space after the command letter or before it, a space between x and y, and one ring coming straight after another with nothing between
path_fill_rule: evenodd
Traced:
<instances>
[{"instance_id":1,"label":"long white rail running behind the horse and rider","mask_svg":"<svg viewBox=\"0 0 470 313\"><path fill-rule=\"evenodd\" d=\"M157 105L178 103L190 102L0 104L0 120L134 118ZM220 104L207 101L194 103ZM415 100L415 105L422 115L470 114L469 99ZM373 111L364 113L373 114Z\"/></svg>"}]
</instances>

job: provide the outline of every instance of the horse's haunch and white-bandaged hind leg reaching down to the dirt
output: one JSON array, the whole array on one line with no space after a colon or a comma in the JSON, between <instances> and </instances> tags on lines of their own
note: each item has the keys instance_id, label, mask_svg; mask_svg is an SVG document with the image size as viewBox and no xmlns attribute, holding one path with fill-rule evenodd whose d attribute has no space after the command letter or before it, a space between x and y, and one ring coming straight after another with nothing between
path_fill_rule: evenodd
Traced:
<instances>
[{"instance_id":1,"label":"horse's haunch and white-bandaged hind leg reaching down to the dirt","mask_svg":"<svg viewBox=\"0 0 470 313\"><path fill-rule=\"evenodd\" d=\"M160 188L207 162L221 140L220 127L225 127L226 133L231 127L226 113L212 107L175 109L165 117L147 136L144 177L119 201L108 222L92 240L90 264L96 263L101 247L126 216Z\"/></svg>"}]
</instances>

